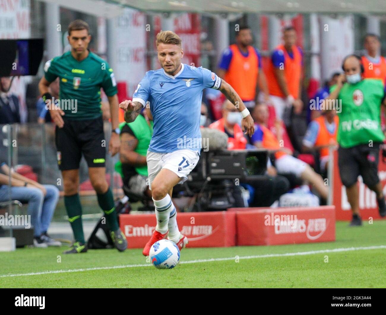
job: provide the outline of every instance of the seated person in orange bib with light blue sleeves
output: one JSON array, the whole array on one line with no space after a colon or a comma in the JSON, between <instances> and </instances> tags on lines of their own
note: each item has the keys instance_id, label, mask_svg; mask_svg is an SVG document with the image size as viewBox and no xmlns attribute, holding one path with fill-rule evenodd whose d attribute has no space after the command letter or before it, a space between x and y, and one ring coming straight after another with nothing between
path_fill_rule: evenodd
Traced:
<instances>
[{"instance_id":1,"label":"seated person in orange bib with light blue sleeves","mask_svg":"<svg viewBox=\"0 0 386 315\"><path fill-rule=\"evenodd\" d=\"M308 125L303 138L303 152L319 151L320 173L325 174L328 168L328 147L337 145L339 118L334 109L324 111Z\"/></svg>"}]
</instances>

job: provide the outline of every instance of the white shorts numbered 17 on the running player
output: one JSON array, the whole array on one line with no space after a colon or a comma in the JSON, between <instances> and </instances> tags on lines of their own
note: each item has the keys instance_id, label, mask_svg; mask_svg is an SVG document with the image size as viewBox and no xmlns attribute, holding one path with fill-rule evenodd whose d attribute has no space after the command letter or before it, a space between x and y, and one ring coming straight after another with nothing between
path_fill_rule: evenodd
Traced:
<instances>
[{"instance_id":1,"label":"white shorts numbered 17 on the running player","mask_svg":"<svg viewBox=\"0 0 386 315\"><path fill-rule=\"evenodd\" d=\"M198 155L198 152L189 149L181 149L169 153L147 151L146 161L149 189L151 190L151 183L162 168L167 168L181 177L179 184L182 184L188 179L189 173L196 167L199 159L200 155Z\"/></svg>"}]
</instances>

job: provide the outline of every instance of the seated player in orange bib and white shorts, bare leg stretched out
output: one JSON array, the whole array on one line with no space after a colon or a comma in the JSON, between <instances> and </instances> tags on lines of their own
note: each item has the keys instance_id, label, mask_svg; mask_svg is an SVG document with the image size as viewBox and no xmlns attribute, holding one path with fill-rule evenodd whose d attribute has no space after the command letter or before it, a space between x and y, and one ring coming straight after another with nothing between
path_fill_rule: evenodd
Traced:
<instances>
[{"instance_id":1,"label":"seated player in orange bib and white shorts, bare leg stretched out","mask_svg":"<svg viewBox=\"0 0 386 315\"><path fill-rule=\"evenodd\" d=\"M327 199L328 189L322 177L315 173L310 165L293 157L291 152L283 147L273 133L267 128L268 108L265 104L257 104L252 113L256 121L256 130L251 137L252 144L257 148L275 150L275 167L278 174L295 174L296 177L310 182L322 198ZM278 135L279 137L279 135Z\"/></svg>"}]
</instances>

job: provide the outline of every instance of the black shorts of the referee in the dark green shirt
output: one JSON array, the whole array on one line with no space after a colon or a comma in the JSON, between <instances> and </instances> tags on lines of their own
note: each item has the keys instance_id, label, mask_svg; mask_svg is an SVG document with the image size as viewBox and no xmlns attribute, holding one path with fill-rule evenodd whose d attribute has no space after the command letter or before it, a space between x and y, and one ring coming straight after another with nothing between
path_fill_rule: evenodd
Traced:
<instances>
[{"instance_id":1,"label":"black shorts of the referee in the dark green shirt","mask_svg":"<svg viewBox=\"0 0 386 315\"><path fill-rule=\"evenodd\" d=\"M106 140L102 117L90 120L63 117L63 120L63 128L56 126L55 130L59 169L78 169L82 153L88 167L105 167Z\"/></svg>"}]
</instances>

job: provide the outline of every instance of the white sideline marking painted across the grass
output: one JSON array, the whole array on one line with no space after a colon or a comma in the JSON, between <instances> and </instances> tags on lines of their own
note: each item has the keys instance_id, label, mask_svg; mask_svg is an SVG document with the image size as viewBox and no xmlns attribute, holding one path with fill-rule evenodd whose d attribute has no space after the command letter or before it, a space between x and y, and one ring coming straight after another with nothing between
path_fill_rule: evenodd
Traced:
<instances>
[{"instance_id":1,"label":"white sideline marking painted across the grass","mask_svg":"<svg viewBox=\"0 0 386 315\"><path fill-rule=\"evenodd\" d=\"M322 249L320 251L301 251L301 252L297 252L297 253L284 253L284 254L265 254L265 255L255 255L255 256L241 256L241 257L239 257L239 259L284 257L284 256L303 256L303 255L312 255L312 254L321 254L321 253L338 253L338 252L342 252L342 251L359 251L359 250L381 249L381 248L386 248L386 245L369 246L369 247L349 247L349 248ZM181 264L208 263L210 261L224 261L224 260L234 260L234 259L235 259L235 257L196 259L196 260L181 261L180 263ZM15 274L15 275L1 275L0 278L17 277L17 276L49 275L51 273L67 273L67 272L79 272L79 271L90 271L90 270L149 267L149 266L152 266L152 265L151 264L132 264L132 265L122 265L122 266L111 266L111 267L94 267L94 268L81 268L81 269L70 269L70 270L52 270L52 271L42 271L42 272L19 273L19 274Z\"/></svg>"}]
</instances>

